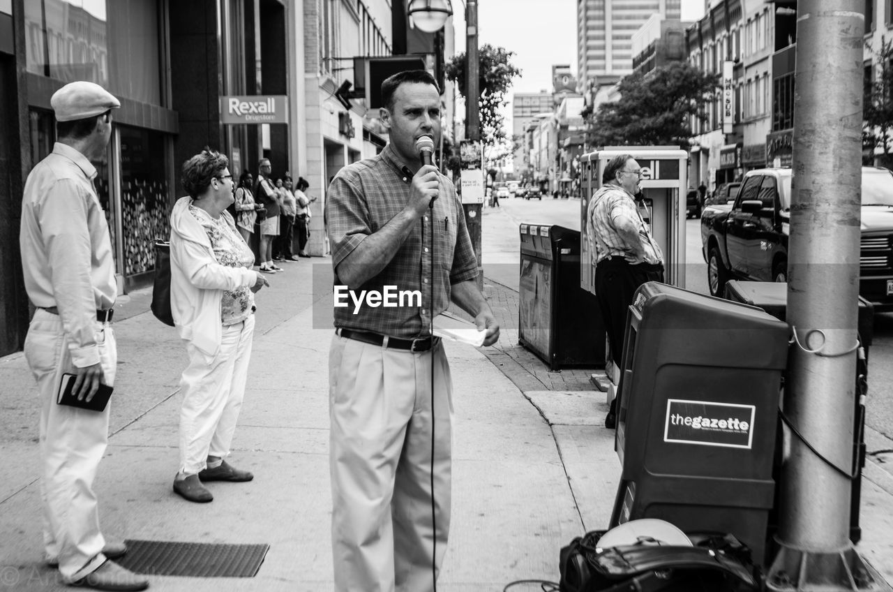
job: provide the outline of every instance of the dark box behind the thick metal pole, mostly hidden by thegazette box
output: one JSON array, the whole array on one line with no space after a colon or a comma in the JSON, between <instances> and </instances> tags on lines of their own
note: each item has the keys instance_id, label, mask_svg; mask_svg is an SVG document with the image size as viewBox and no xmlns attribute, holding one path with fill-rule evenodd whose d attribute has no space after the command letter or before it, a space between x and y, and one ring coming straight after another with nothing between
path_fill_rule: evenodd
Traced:
<instances>
[{"instance_id":1,"label":"dark box behind the thick metal pole, mostly hidden by thegazette box","mask_svg":"<svg viewBox=\"0 0 893 592\"><path fill-rule=\"evenodd\" d=\"M772 317L785 320L788 309L788 284L780 282L739 282L732 280L726 283L725 297L734 302L744 302L759 307L768 312ZM859 297L858 321L856 322L859 344L864 347L865 363L864 377L867 380L868 350L874 336L874 305ZM859 369L856 368L856 380ZM853 479L853 488L849 505L849 539L857 544L862 539L862 527L859 526L859 506L862 497L862 469L865 466L865 404L862 393L855 389L854 397L855 414L853 416L853 461L856 468L856 476ZM776 482L780 476L780 458L775 459ZM780 492L776 492L776 499ZM776 508L778 503L776 503ZM778 517L773 512L769 517L770 531L777 529Z\"/></svg>"}]
</instances>

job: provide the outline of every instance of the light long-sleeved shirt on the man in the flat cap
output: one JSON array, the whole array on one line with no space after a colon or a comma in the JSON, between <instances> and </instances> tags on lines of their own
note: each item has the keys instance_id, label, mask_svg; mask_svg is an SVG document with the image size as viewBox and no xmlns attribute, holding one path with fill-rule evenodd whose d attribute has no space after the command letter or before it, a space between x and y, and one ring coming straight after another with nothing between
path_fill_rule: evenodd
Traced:
<instances>
[{"instance_id":1,"label":"light long-sleeved shirt on the man in the flat cap","mask_svg":"<svg viewBox=\"0 0 893 592\"><path fill-rule=\"evenodd\" d=\"M59 309L78 368L99 363L96 309L111 309L118 293L95 177L87 156L56 142L29 173L21 203L25 289L34 306Z\"/></svg>"}]
</instances>

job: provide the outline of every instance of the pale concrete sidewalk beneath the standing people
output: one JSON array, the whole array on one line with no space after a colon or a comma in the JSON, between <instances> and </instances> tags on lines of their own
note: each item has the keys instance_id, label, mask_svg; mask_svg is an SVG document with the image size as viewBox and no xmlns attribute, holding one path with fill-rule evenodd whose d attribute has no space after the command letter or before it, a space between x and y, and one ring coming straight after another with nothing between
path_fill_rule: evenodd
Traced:
<instances>
[{"instance_id":1,"label":"pale concrete sidewalk beneath the standing people","mask_svg":"<svg viewBox=\"0 0 893 592\"><path fill-rule=\"evenodd\" d=\"M271 276L271 289L258 294L249 390L232 454L233 464L251 469L255 480L211 484L210 504L187 503L171 492L185 349L174 329L148 312L148 290L131 293L116 308L119 375L96 482L104 533L270 545L255 578L153 576L150 589L332 588L330 261L283 266L285 273ZM560 547L605 527L620 474L613 431L602 425L605 395L588 384L589 371L549 372L517 345L517 292L489 280L485 292L503 327L500 342L482 350L447 345L455 460L451 536L438 580L446 592L498 591L516 579L557 581ZM0 589L70 589L40 562L38 402L21 353L0 359L0 385ZM884 449L893 443L869 443L870 451ZM893 579L893 477L878 462L869 464L858 550Z\"/></svg>"}]
</instances>

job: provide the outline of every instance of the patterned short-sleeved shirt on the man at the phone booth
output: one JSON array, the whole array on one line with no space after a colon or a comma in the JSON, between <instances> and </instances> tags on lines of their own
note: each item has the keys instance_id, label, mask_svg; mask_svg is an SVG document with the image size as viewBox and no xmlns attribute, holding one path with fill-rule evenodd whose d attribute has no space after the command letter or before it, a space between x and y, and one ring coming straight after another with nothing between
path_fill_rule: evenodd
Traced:
<instances>
[{"instance_id":1,"label":"patterned short-sleeved shirt on the man at the phone booth","mask_svg":"<svg viewBox=\"0 0 893 592\"><path fill-rule=\"evenodd\" d=\"M605 183L593 194L586 212L586 238L590 252L596 254L596 263L612 257L622 257L630 263L636 263L614 225L619 216L626 216L638 226L638 239L645 249L645 263L662 264L661 248L639 213L635 199L629 191L611 183Z\"/></svg>"}]
</instances>

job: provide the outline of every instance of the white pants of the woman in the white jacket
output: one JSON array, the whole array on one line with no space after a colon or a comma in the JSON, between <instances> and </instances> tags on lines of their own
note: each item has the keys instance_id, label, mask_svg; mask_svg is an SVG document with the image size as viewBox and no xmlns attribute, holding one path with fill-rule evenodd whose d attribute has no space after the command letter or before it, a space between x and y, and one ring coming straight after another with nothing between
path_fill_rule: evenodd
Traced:
<instances>
[{"instance_id":1,"label":"white pants of the woman in the white jacket","mask_svg":"<svg viewBox=\"0 0 893 592\"><path fill-rule=\"evenodd\" d=\"M230 453L238 412L245 398L248 361L255 334L255 316L223 327L221 349L210 364L192 343L186 344L189 365L179 388L179 469L195 475L207 466L208 456Z\"/></svg>"}]
</instances>

